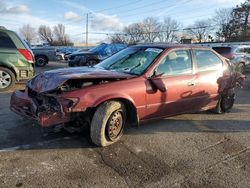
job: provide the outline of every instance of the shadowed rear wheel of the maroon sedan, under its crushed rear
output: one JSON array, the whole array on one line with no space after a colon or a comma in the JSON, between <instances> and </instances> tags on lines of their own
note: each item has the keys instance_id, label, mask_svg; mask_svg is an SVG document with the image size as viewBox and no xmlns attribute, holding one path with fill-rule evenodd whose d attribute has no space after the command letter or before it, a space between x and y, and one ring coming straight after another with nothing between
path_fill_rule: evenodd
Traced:
<instances>
[{"instance_id":1,"label":"shadowed rear wheel of the maroon sedan, under its crushed rear","mask_svg":"<svg viewBox=\"0 0 250 188\"><path fill-rule=\"evenodd\" d=\"M230 112L234 105L235 94L221 96L216 107L212 110L216 114Z\"/></svg>"}]
</instances>

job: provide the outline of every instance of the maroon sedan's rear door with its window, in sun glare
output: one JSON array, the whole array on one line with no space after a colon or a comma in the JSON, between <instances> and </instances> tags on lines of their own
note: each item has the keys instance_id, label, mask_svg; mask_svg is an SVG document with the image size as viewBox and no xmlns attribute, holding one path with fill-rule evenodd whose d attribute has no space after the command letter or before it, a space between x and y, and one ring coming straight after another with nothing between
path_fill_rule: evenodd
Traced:
<instances>
[{"instance_id":1,"label":"maroon sedan's rear door with its window, in sun glare","mask_svg":"<svg viewBox=\"0 0 250 188\"><path fill-rule=\"evenodd\" d=\"M218 101L219 78L223 76L223 61L209 49L193 49L196 65L196 87L200 90L200 109L213 107Z\"/></svg>"}]
</instances>

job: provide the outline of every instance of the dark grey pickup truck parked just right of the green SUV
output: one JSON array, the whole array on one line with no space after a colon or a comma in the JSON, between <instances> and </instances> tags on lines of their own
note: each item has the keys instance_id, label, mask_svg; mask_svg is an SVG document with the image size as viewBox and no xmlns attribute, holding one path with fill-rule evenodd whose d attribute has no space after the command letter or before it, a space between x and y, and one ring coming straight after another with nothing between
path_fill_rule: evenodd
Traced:
<instances>
[{"instance_id":1,"label":"dark grey pickup truck parked just right of the green SUV","mask_svg":"<svg viewBox=\"0 0 250 188\"><path fill-rule=\"evenodd\" d=\"M36 66L44 67L49 61L56 61L56 49L53 47L32 48L35 55Z\"/></svg>"}]
</instances>

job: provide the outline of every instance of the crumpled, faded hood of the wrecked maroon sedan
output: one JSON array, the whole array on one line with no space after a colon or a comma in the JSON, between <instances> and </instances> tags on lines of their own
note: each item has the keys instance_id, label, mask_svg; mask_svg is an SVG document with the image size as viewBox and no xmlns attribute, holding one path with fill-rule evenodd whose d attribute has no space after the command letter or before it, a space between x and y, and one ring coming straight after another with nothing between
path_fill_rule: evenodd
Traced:
<instances>
[{"instance_id":1,"label":"crumpled, faded hood of the wrecked maroon sedan","mask_svg":"<svg viewBox=\"0 0 250 188\"><path fill-rule=\"evenodd\" d=\"M31 79L27 86L38 92L52 91L70 79L95 79L95 78L117 78L127 79L133 75L108 71L96 67L74 67L46 71Z\"/></svg>"}]
</instances>

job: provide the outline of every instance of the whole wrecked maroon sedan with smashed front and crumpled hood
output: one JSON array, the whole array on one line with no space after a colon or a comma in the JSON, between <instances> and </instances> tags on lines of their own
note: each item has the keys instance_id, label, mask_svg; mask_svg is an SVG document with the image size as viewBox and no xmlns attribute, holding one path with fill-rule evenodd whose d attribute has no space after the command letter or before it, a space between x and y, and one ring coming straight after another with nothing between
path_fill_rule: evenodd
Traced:
<instances>
[{"instance_id":1,"label":"whole wrecked maroon sedan with smashed front and crumpled hood","mask_svg":"<svg viewBox=\"0 0 250 188\"><path fill-rule=\"evenodd\" d=\"M11 97L11 110L43 127L90 126L98 146L127 124L211 110L227 112L243 76L209 48L137 45L94 67L47 71Z\"/></svg>"}]
</instances>

